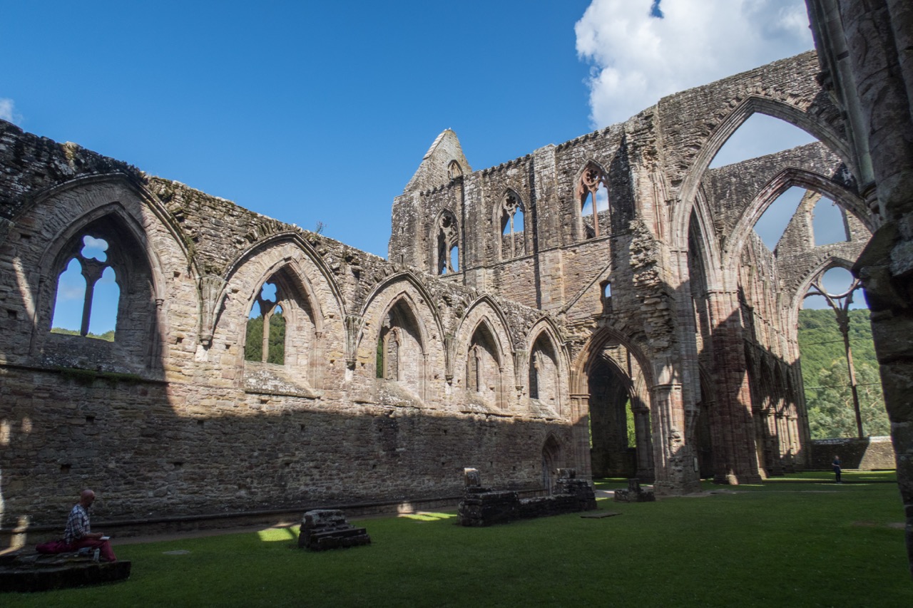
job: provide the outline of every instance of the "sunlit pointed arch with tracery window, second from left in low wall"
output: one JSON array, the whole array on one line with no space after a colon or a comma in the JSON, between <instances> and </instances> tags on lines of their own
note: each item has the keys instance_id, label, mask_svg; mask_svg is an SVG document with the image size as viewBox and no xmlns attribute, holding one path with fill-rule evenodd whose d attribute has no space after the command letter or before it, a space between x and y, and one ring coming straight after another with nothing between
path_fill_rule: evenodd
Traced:
<instances>
[{"instance_id":1,"label":"sunlit pointed arch with tracery window, second from left in low wall","mask_svg":"<svg viewBox=\"0 0 913 608\"><path fill-rule=\"evenodd\" d=\"M344 364L327 356L345 343L337 295L322 260L299 235L265 238L213 280L203 309L211 307L213 322L205 351L219 353L223 363L234 356L236 382L249 393L313 397Z\"/></svg>"}]
</instances>

